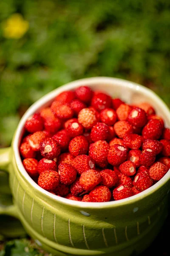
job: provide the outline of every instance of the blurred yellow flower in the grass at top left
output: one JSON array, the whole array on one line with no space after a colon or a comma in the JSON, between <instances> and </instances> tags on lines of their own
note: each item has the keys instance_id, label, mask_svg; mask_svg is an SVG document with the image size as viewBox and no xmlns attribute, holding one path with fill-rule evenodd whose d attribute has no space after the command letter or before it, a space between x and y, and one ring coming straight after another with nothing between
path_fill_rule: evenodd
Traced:
<instances>
[{"instance_id":1,"label":"blurred yellow flower in the grass at top left","mask_svg":"<svg viewBox=\"0 0 170 256\"><path fill-rule=\"evenodd\" d=\"M15 13L3 23L3 36L5 38L21 38L29 28L28 21L23 16Z\"/></svg>"}]
</instances>

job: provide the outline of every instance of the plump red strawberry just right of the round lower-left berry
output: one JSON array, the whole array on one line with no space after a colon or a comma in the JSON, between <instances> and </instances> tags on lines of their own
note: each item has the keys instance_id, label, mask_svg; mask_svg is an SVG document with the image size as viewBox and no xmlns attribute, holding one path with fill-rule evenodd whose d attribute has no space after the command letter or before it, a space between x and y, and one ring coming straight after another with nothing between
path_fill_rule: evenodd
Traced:
<instances>
[{"instance_id":1,"label":"plump red strawberry just right of the round lower-left berry","mask_svg":"<svg viewBox=\"0 0 170 256\"><path fill-rule=\"evenodd\" d=\"M77 171L71 164L60 163L58 166L58 173L60 175L60 182L65 185L70 185L76 180Z\"/></svg>"}]
</instances>

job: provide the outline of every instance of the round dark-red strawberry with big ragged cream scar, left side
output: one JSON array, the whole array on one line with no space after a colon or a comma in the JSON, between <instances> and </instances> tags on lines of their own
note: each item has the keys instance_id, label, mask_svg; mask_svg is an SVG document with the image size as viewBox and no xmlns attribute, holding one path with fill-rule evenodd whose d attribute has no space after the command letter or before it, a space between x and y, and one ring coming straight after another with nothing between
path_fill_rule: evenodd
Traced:
<instances>
[{"instance_id":1,"label":"round dark-red strawberry with big ragged cream scar, left side","mask_svg":"<svg viewBox=\"0 0 170 256\"><path fill-rule=\"evenodd\" d=\"M56 140L46 138L40 144L41 155L47 159L54 159L60 154L60 148Z\"/></svg>"}]
</instances>

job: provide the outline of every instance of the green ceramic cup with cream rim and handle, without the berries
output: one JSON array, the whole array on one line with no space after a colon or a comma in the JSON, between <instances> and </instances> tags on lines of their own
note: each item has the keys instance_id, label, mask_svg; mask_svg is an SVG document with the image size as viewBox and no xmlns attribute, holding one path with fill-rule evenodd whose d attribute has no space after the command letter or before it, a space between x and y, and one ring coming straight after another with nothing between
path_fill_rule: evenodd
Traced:
<instances>
[{"instance_id":1,"label":"green ceramic cup with cream rim and handle, without the berries","mask_svg":"<svg viewBox=\"0 0 170 256\"><path fill-rule=\"evenodd\" d=\"M29 177L18 146L26 119L48 106L57 94L88 85L127 103L150 102L170 127L170 111L151 90L122 79L96 77L71 82L48 93L25 113L14 134L11 148L1 149L1 169L9 173L13 205L0 207L12 215L26 232L57 256L137 255L146 249L167 217L170 172L144 192L120 201L86 203L71 201L40 188Z\"/></svg>"}]
</instances>

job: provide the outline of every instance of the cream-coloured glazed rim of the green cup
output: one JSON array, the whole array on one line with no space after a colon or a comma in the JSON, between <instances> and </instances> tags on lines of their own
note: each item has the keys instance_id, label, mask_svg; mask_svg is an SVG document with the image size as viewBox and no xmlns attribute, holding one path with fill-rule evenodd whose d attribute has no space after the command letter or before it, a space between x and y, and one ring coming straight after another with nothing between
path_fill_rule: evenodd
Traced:
<instances>
[{"instance_id":1,"label":"cream-coloured glazed rim of the green cup","mask_svg":"<svg viewBox=\"0 0 170 256\"><path fill-rule=\"evenodd\" d=\"M21 176L24 176L29 183L34 189L42 193L42 195L46 195L48 198L53 199L54 201L58 201L62 204L65 205L70 205L78 208L86 208L86 209L101 209L101 208L109 208L109 207L119 207L123 205L127 205L130 203L135 203L147 196L149 196L151 193L155 192L158 190L161 186L163 186L165 183L167 183L167 180L170 179L170 171L164 175L164 177L161 178L156 184L151 186L150 188L144 190L143 192L140 192L137 195L133 195L129 198L121 199L118 201L109 201L109 202L82 202L82 201L73 201L69 200L67 198L62 198L57 195L53 195L50 192L46 191L45 189L42 189L40 186L38 186L37 183L32 180L32 178L28 175L26 172L23 163L21 161L20 157L20 152L19 152L19 141L20 141L20 134L22 134L22 130L24 127L24 124L26 120L28 119L29 116L31 116L33 113L37 111L38 108L40 108L42 105L44 105L46 102L49 102L50 100L54 99L55 96L57 96L59 93L61 93L64 90L71 90L75 89L78 86L81 85L93 85L97 83L107 83L107 84L114 84L116 83L117 85L120 85L121 87L128 87L130 90L133 91L140 91L144 93L145 95L149 96L150 99L156 99L156 101L159 103L162 109L164 109L164 112L167 114L168 118L170 119L170 110L168 109L167 105L162 101L161 98L159 98L156 93L154 93L152 90L148 89L147 87L144 87L140 84L127 81L124 79L119 79L119 78L111 78L111 77L91 77L91 78L85 78L85 79L79 79L76 81L69 82L65 85L62 85L61 87L58 87L55 90L52 90L50 93L47 93L45 96L37 100L33 105L28 108L26 113L23 115L21 118L18 126L16 133L14 135L13 143L12 143L12 148L14 152L14 157L16 161L17 168L20 172Z\"/></svg>"}]
</instances>

